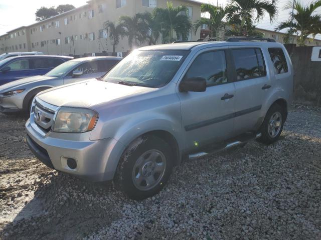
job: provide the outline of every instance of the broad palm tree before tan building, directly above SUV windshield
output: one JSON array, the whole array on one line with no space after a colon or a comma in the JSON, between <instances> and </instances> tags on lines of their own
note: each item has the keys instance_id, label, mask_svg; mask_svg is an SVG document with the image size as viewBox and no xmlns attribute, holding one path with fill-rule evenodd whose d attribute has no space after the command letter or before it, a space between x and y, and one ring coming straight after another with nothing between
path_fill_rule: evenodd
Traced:
<instances>
[{"instance_id":1,"label":"broad palm tree before tan building, directly above SUV windshield","mask_svg":"<svg viewBox=\"0 0 321 240\"><path fill-rule=\"evenodd\" d=\"M167 2L166 8L154 8L154 19L158 24L157 28L162 31L163 43L176 40L174 32L178 39L188 39L192 28L188 13L189 9L186 5L174 7L173 2Z\"/></svg>"}]
</instances>

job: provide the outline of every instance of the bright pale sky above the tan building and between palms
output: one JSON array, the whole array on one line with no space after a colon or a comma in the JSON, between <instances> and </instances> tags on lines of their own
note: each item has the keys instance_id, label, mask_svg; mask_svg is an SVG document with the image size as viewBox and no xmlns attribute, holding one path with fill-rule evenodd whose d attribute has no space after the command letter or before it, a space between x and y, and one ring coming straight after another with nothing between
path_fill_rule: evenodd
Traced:
<instances>
[{"instance_id":1,"label":"bright pale sky above the tan building and between palms","mask_svg":"<svg viewBox=\"0 0 321 240\"><path fill-rule=\"evenodd\" d=\"M87 0L0 0L0 35L5 34L7 31L22 25L30 25L35 20L35 12L41 6L57 6L59 4L73 4L78 7L86 4ZM228 0L199 0L205 3L218 3L226 5ZM301 0L303 3L308 3L311 0ZM281 21L289 18L289 10L283 10L283 6L288 0L278 0L279 14L277 19L271 24L268 16L264 16L257 27L273 30L274 27ZM321 7L317 10L321 14ZM321 38L318 36L317 38Z\"/></svg>"}]
</instances>

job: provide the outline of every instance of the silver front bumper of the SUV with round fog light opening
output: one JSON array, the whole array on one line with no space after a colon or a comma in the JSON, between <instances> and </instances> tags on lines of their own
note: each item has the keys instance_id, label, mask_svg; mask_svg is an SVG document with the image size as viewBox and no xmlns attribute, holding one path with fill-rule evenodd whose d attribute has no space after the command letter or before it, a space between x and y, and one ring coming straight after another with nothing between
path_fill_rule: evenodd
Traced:
<instances>
[{"instance_id":1,"label":"silver front bumper of the SUV with round fog light opening","mask_svg":"<svg viewBox=\"0 0 321 240\"><path fill-rule=\"evenodd\" d=\"M124 150L124 145L114 138L75 141L43 137L33 129L30 120L26 123L26 131L28 146L44 164L91 181L113 179L118 160ZM68 158L76 160L75 169L68 167Z\"/></svg>"}]
</instances>

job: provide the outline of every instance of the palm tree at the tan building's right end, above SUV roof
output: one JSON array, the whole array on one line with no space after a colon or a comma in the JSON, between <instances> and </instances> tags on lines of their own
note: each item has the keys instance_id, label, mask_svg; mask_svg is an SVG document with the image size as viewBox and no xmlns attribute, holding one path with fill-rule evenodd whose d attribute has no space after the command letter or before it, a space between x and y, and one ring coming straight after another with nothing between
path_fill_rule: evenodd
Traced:
<instances>
[{"instance_id":1,"label":"palm tree at the tan building's right end, above SUV roof","mask_svg":"<svg viewBox=\"0 0 321 240\"><path fill-rule=\"evenodd\" d=\"M210 18L201 17L193 24L193 31L196 35L197 30L201 25L206 24L211 31L210 37L219 36L220 31L226 26L226 22L223 21L226 15L226 9L223 6L215 6L210 3L201 5L201 12L209 12Z\"/></svg>"}]
</instances>

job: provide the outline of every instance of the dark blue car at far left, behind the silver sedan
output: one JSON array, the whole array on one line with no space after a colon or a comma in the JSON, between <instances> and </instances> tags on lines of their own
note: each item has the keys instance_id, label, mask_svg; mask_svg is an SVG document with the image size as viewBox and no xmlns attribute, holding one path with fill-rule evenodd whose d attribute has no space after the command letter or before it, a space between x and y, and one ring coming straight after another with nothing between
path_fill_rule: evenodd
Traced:
<instances>
[{"instance_id":1,"label":"dark blue car at far left, behind the silver sedan","mask_svg":"<svg viewBox=\"0 0 321 240\"><path fill-rule=\"evenodd\" d=\"M0 61L0 85L28 76L46 74L71 56L15 56Z\"/></svg>"}]
</instances>

